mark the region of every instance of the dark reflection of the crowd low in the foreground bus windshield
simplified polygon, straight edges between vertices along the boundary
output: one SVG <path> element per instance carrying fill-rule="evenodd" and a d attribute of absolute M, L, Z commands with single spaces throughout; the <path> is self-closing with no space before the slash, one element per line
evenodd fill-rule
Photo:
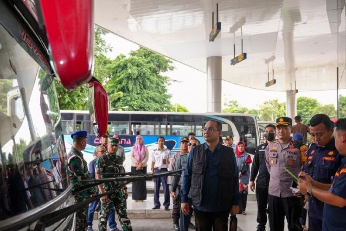
<path fill-rule="evenodd" d="M 6 168 L 0 165 L 0 220 L 51 201 L 68 184 L 67 178 L 62 177 L 62 170 L 55 166 L 52 157 L 49 157 L 47 169 L 40 160 L 27 162 L 22 167 L 14 162 L 9 153 Z"/>

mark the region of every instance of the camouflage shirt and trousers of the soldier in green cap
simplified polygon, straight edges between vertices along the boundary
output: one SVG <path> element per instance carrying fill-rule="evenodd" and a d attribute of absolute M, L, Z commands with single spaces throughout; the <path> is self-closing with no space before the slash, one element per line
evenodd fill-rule
<path fill-rule="evenodd" d="M 119 163 L 119 160 L 117 160 L 116 154 L 110 155 L 108 152 L 107 154 L 103 155 L 96 161 L 96 174 L 101 174 L 104 172 L 121 172 L 121 166 L 119 166 L 117 163 Z M 112 175 L 101 175 L 101 178 L 110 178 L 114 177 Z M 113 190 L 113 188 L 118 187 L 121 185 L 120 181 L 111 181 L 106 182 L 102 184 L 102 187 L 104 189 L 104 192 L 109 192 L 110 190 Z M 127 217 L 126 212 L 126 198 L 125 198 L 125 191 L 123 188 L 119 188 L 116 193 L 113 193 L 111 195 L 108 195 L 108 200 L 106 203 L 103 203 L 101 201 L 101 213 L 99 218 L 99 230 L 106 231 L 107 230 L 107 220 L 109 216 L 109 211 L 112 208 L 112 206 L 115 207 L 115 211 L 118 214 L 119 222 L 124 231 L 132 231 L 131 222 L 130 219 Z"/>

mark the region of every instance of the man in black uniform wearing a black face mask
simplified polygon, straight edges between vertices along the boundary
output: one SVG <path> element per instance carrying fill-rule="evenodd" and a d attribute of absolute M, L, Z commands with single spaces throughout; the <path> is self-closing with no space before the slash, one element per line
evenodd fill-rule
<path fill-rule="evenodd" d="M 257 200 L 257 231 L 265 231 L 267 223 L 267 204 L 268 204 L 268 186 L 269 173 L 265 164 L 265 148 L 275 140 L 275 125 L 268 124 L 264 128 L 263 136 L 267 140 L 264 144 L 258 145 L 255 152 L 254 161 L 251 166 L 251 176 L 249 188 L 252 192 L 255 189 L 255 179 L 257 176 L 256 200 Z"/>

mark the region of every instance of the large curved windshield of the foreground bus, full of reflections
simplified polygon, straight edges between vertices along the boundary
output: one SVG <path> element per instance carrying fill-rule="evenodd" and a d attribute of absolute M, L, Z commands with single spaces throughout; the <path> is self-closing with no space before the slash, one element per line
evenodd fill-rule
<path fill-rule="evenodd" d="M 50 71 L 1 25 L 0 43 L 0 220 L 5 220 L 56 198 L 69 179 Z"/>

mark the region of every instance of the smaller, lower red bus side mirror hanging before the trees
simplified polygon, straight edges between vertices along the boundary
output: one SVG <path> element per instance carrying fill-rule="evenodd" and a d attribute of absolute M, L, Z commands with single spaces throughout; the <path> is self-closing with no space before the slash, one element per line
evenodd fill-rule
<path fill-rule="evenodd" d="M 95 136 L 107 132 L 108 95 L 101 83 L 94 77 L 89 82 L 89 113 Z"/>

